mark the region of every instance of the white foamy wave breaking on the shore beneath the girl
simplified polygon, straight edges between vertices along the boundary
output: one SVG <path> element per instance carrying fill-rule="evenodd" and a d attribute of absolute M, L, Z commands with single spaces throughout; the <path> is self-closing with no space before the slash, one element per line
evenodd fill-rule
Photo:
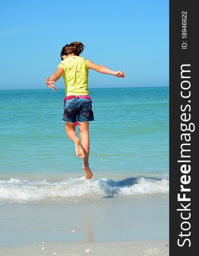
<path fill-rule="evenodd" d="M 156 177 L 111 180 L 85 180 L 85 177 L 69 177 L 59 182 L 47 179 L 32 181 L 24 179 L 0 180 L 0 198 L 34 201 L 51 197 L 81 197 L 83 195 L 125 196 L 169 192 L 169 179 Z"/>

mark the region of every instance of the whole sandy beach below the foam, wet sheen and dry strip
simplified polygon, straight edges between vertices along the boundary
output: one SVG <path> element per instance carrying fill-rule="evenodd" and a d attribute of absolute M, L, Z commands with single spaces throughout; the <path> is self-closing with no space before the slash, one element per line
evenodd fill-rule
<path fill-rule="evenodd" d="M 2 201 L 0 225 L 2 256 L 166 256 L 169 251 L 164 194 Z"/>

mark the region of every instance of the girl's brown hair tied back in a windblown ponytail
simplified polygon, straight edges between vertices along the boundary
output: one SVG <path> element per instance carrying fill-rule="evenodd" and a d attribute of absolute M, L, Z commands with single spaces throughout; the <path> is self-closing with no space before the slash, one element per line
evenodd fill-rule
<path fill-rule="evenodd" d="M 84 51 L 84 44 L 82 44 L 81 42 L 72 42 L 70 44 L 66 44 L 65 46 L 63 46 L 60 56 L 62 55 L 69 55 L 69 54 L 74 54 L 79 56 L 83 51 Z M 61 59 L 63 60 L 63 58 L 61 57 Z"/>

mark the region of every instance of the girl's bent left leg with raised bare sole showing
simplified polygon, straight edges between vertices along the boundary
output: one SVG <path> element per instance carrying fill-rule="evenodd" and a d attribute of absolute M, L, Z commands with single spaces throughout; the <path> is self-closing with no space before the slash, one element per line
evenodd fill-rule
<path fill-rule="evenodd" d="M 75 123 L 65 122 L 66 134 L 70 140 L 75 143 L 76 155 L 80 158 L 84 158 L 84 151 L 80 143 L 80 139 L 75 132 Z"/>

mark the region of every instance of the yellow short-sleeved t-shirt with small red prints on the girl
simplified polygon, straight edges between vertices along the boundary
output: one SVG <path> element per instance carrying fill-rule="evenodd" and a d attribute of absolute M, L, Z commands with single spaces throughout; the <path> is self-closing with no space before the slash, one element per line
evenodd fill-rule
<path fill-rule="evenodd" d="M 70 95 L 89 95 L 88 59 L 81 56 L 69 56 L 58 64 L 63 68 L 62 77 L 65 84 L 66 96 Z M 57 68 L 58 68 L 57 67 Z"/>

